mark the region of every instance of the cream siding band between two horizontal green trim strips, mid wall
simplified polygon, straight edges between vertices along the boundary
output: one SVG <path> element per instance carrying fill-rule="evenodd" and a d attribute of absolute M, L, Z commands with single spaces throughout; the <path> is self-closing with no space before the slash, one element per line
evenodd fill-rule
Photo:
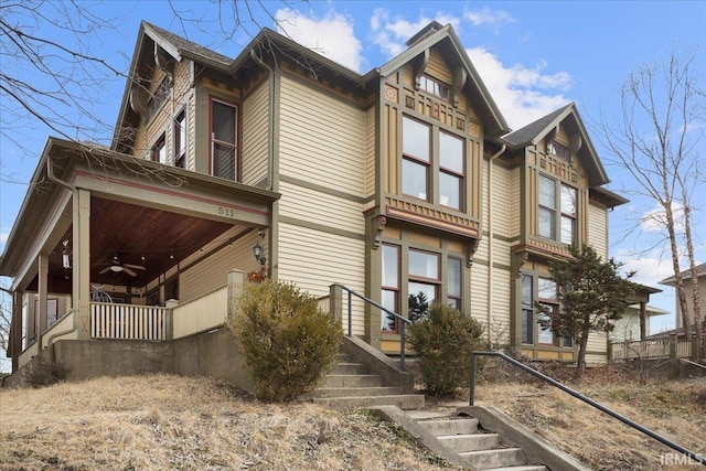
<path fill-rule="evenodd" d="M 315 190 L 281 182 L 280 216 L 321 224 L 327 227 L 365 234 L 363 205 Z M 322 204 L 325 202 L 325 204 Z M 335 208 L 335 211 L 332 211 Z"/>

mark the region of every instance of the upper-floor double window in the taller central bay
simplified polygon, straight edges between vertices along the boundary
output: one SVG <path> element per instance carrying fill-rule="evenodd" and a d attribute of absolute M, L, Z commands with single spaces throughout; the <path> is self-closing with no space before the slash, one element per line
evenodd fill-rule
<path fill-rule="evenodd" d="M 466 140 L 450 132 L 403 116 L 402 192 L 432 204 L 463 210 L 466 194 Z M 438 138 L 438 156 L 432 158 L 432 136 Z M 438 175 L 432 178 L 432 159 Z M 435 162 L 436 163 L 436 162 Z M 434 189 L 438 189 L 438 201 Z"/>

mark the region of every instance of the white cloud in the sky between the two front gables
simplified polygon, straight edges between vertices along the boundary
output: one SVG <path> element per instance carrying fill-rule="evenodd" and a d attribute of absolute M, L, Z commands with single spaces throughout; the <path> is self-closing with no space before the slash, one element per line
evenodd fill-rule
<path fill-rule="evenodd" d="M 534 68 L 520 64 L 506 67 L 483 47 L 466 50 L 501 113 L 513 129 L 548 115 L 570 101 L 560 92 L 571 85 L 566 72 L 544 74 L 547 64 Z"/>

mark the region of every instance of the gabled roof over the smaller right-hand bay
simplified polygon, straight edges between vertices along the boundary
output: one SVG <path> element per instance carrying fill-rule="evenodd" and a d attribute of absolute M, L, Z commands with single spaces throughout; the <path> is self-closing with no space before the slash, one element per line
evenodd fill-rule
<path fill-rule="evenodd" d="M 590 186 L 597 188 L 609 183 L 610 180 L 608 179 L 608 173 L 598 157 L 598 152 L 591 142 L 575 103 L 569 103 L 536 121 L 503 136 L 499 142 L 507 144 L 512 150 L 527 146 L 536 146 L 552 133 L 560 124 L 566 124 L 568 127 L 574 128 L 573 131 L 578 133 L 581 138 L 581 146 L 579 147 L 577 154 L 586 169 Z"/>

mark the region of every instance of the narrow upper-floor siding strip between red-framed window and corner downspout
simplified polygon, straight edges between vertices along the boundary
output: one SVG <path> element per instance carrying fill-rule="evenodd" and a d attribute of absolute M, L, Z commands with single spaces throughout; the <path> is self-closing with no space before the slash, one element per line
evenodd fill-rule
<path fill-rule="evenodd" d="M 243 103 L 243 183 L 255 185 L 267 178 L 269 86 L 263 83 Z"/>

